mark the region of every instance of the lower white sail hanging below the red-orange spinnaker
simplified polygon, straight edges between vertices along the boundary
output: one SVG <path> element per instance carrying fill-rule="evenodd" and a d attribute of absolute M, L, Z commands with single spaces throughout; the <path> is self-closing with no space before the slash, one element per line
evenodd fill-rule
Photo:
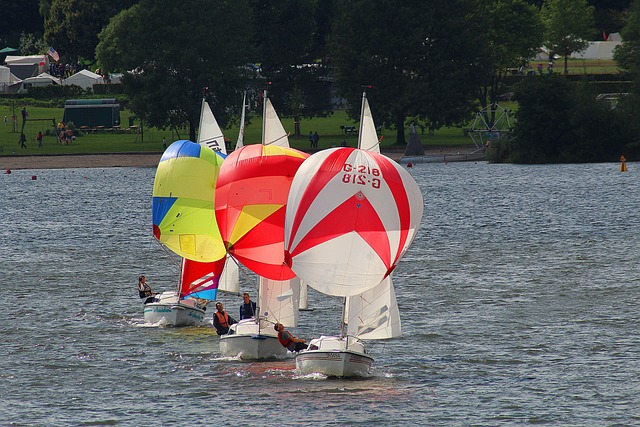
<path fill-rule="evenodd" d="M 260 313 L 269 322 L 280 322 L 291 328 L 298 326 L 300 279 L 280 281 L 260 277 L 259 286 Z"/>

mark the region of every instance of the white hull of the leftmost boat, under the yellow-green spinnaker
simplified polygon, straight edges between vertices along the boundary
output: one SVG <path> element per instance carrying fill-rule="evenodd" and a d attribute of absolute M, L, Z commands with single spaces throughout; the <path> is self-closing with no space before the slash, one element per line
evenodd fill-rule
<path fill-rule="evenodd" d="M 175 292 L 164 292 L 158 302 L 144 306 L 144 322 L 162 326 L 202 326 L 205 311 L 192 299 L 178 300 Z"/>

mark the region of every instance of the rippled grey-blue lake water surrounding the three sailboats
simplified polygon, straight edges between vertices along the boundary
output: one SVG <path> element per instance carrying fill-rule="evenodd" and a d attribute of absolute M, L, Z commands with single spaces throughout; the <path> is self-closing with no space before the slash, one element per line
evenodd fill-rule
<path fill-rule="evenodd" d="M 0 175 L 0 425 L 640 425 L 640 165 L 410 170 L 426 205 L 394 273 L 404 337 L 371 342 L 359 380 L 144 325 L 137 276 L 178 275 L 152 237 L 155 169 Z M 338 300 L 309 305 L 296 335 L 338 332 Z"/>

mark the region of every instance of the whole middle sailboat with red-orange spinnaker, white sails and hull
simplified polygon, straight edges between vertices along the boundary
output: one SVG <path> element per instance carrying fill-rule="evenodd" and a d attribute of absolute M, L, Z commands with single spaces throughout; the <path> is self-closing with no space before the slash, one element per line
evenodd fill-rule
<path fill-rule="evenodd" d="M 231 153 L 216 188 L 216 219 L 227 250 L 256 273 L 259 282 L 257 315 L 220 337 L 223 356 L 260 360 L 287 353 L 273 329 L 275 322 L 289 327 L 297 323 L 297 281 L 292 284 L 295 274 L 283 256 L 284 211 L 293 176 L 307 157 L 289 148 L 265 93 L 262 144 L 243 145 Z"/>

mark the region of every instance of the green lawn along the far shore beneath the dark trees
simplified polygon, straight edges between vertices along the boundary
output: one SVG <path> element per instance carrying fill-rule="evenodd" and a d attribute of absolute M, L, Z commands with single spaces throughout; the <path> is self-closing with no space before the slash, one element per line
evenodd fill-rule
<path fill-rule="evenodd" d="M 92 154 L 92 153 L 120 153 L 120 152 L 162 152 L 162 138 L 166 137 L 167 142 L 171 143 L 177 139 L 187 139 L 188 129 L 182 129 L 179 135 L 169 130 L 162 131 L 155 128 L 145 128 L 144 138 L 142 135 L 138 135 L 136 138 L 135 133 L 129 133 L 127 131 L 112 132 L 102 131 L 99 133 L 80 134 L 77 136 L 75 142 L 71 145 L 62 145 L 56 142 L 55 136 L 45 136 L 43 140 L 43 148 L 38 148 L 36 142 L 36 135 L 38 131 L 45 132 L 46 129 L 50 129 L 51 121 L 29 121 L 27 120 L 25 126 L 25 135 L 27 137 L 27 148 L 21 149 L 18 144 L 18 138 L 20 136 L 20 129 L 22 127 L 22 117 L 20 110 L 23 105 L 16 107 L 17 119 L 17 132 L 13 131 L 11 123 L 12 110 L 6 105 L 0 106 L 0 117 L 7 116 L 8 123 L 0 123 L 0 155 L 14 155 L 14 154 Z M 29 119 L 55 119 L 56 123 L 62 119 L 62 108 L 40 108 L 31 107 L 27 105 L 27 111 L 29 113 Z M 128 111 L 120 112 L 120 120 L 123 125 L 128 125 L 128 117 L 132 114 Z M 374 111 L 375 119 L 375 111 Z M 300 123 L 301 136 L 296 139 L 293 136 L 294 123 L 293 119 L 282 119 L 284 128 L 291 132 L 292 136 L 289 137 L 291 146 L 298 149 L 309 148 L 308 135 L 309 131 L 318 132 L 320 135 L 319 148 L 328 148 L 332 146 L 340 145 L 342 138 L 345 138 L 350 146 L 355 146 L 357 143 L 357 136 L 343 135 L 340 126 L 357 126 L 347 117 L 345 111 L 335 111 L 329 117 L 315 118 L 311 120 L 303 120 Z M 137 124 L 137 123 L 136 123 Z M 235 142 L 238 138 L 238 128 L 230 128 L 223 130 L 227 138 L 232 141 L 232 146 L 235 146 Z M 408 138 L 408 130 L 407 138 Z M 53 133 L 53 132 L 52 132 Z M 251 123 L 245 130 L 245 143 L 254 144 L 260 142 L 260 136 L 262 133 L 262 118 L 252 115 Z M 395 143 L 396 134 L 395 131 L 383 130 L 384 136 L 381 146 L 384 149 Z M 471 144 L 472 141 L 468 136 L 465 136 L 461 128 L 444 128 L 436 131 L 433 135 L 429 135 L 427 132 L 421 135 L 421 139 L 424 145 L 460 145 Z"/>

